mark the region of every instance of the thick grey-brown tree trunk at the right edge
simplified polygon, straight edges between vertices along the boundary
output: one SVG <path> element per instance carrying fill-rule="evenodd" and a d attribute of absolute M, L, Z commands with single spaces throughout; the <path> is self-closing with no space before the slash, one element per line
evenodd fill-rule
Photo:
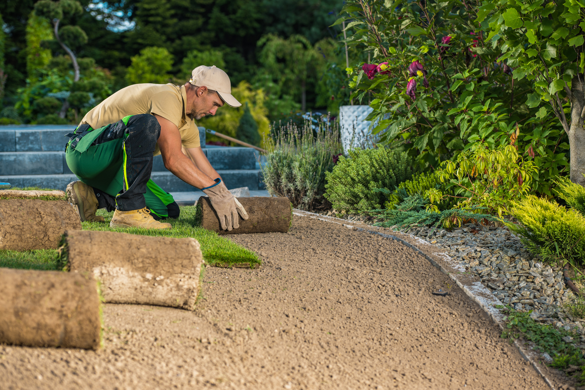
<path fill-rule="evenodd" d="M 571 125 L 569 132 L 571 181 L 585 186 L 585 85 L 583 74 L 573 77 L 571 92 Z"/>

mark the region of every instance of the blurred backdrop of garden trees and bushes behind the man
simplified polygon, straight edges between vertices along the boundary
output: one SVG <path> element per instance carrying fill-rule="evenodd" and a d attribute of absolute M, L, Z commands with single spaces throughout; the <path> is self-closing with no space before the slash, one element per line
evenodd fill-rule
<path fill-rule="evenodd" d="M 342 3 L 5 0 L 0 124 L 74 124 L 127 85 L 181 85 L 202 64 L 225 70 L 245 105 L 199 125 L 235 136 L 253 118 L 264 136 L 300 110 L 336 115 L 349 102 L 342 28 L 330 27 Z"/>

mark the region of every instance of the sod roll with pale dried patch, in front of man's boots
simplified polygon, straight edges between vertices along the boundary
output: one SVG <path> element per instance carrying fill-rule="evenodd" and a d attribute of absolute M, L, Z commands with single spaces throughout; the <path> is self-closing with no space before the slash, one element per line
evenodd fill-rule
<path fill-rule="evenodd" d="M 74 230 L 59 251 L 65 269 L 94 274 L 105 302 L 194 310 L 204 263 L 195 238 Z"/>

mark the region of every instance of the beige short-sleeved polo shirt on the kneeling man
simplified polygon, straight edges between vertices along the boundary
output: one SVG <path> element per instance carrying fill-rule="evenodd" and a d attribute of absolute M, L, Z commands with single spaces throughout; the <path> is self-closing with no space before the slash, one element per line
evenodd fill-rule
<path fill-rule="evenodd" d="M 185 86 L 174 84 L 134 84 L 122 88 L 91 109 L 81 119 L 94 129 L 118 122 L 128 115 L 157 114 L 173 122 L 181 134 L 184 148 L 197 148 L 199 129 L 195 121 L 185 115 L 187 93 Z M 156 144 L 154 156 L 160 155 Z"/>

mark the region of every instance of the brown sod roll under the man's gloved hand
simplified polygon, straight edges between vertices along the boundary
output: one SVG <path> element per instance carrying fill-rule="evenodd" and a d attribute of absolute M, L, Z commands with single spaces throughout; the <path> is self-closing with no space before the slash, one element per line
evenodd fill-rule
<path fill-rule="evenodd" d="M 222 230 L 218 214 L 211 207 L 207 196 L 197 201 L 197 219 L 201 227 L 215 231 L 217 234 L 287 232 L 292 224 L 292 207 L 286 197 L 250 197 L 238 198 L 246 209 L 248 219 L 238 215 L 240 227 L 231 231 Z"/>

